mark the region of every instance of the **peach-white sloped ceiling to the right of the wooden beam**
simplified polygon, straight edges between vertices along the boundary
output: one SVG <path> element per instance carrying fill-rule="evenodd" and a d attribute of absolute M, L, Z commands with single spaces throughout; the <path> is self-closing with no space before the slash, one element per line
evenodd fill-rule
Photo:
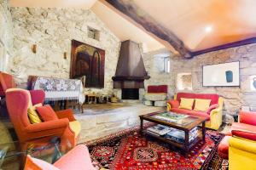
<path fill-rule="evenodd" d="M 192 51 L 256 37 L 256 0 L 133 2 L 172 31 Z M 212 31 L 206 31 L 207 26 Z"/>

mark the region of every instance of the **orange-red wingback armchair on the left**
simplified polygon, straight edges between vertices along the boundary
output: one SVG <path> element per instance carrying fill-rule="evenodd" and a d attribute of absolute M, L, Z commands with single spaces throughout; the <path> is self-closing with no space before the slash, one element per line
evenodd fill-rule
<path fill-rule="evenodd" d="M 26 144 L 34 140 L 61 137 L 61 143 L 69 142 L 72 146 L 79 139 L 80 124 L 73 117 L 72 110 L 58 111 L 59 119 L 32 124 L 27 115 L 28 107 L 39 103 L 44 104 L 44 91 L 27 91 L 20 88 L 10 88 L 6 91 L 6 103 L 9 117 L 15 127 L 20 143 Z"/>

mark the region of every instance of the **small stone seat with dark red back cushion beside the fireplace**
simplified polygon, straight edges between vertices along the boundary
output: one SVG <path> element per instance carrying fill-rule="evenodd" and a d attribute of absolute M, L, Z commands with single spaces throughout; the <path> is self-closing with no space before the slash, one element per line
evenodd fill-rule
<path fill-rule="evenodd" d="M 168 86 L 148 86 L 148 93 L 144 95 L 144 105 L 154 105 L 156 107 L 166 106 Z"/>

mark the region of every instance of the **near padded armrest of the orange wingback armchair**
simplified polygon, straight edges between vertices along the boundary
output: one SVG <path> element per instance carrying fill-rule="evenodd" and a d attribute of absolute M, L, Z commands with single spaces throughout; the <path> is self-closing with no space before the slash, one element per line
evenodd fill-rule
<path fill-rule="evenodd" d="M 26 127 L 26 132 L 38 133 L 38 132 L 48 131 L 55 128 L 63 128 L 63 131 L 64 131 L 68 125 L 69 125 L 69 121 L 67 118 L 48 121 L 48 122 L 39 122 L 39 123 L 28 125 Z"/>

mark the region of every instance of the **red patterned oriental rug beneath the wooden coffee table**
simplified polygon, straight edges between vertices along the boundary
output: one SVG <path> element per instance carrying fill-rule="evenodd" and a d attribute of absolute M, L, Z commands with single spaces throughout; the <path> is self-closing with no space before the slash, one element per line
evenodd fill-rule
<path fill-rule="evenodd" d="M 224 134 L 207 130 L 206 142 L 199 142 L 184 155 L 170 144 L 142 136 L 138 128 L 125 130 L 86 143 L 97 167 L 106 169 L 227 169 L 228 161 L 218 156 Z"/>

